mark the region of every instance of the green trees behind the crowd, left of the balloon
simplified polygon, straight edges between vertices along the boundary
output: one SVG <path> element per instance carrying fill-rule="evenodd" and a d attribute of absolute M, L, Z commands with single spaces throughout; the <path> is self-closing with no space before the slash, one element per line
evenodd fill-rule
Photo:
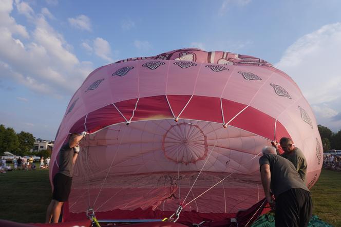
<path fill-rule="evenodd" d="M 10 152 L 16 156 L 50 156 L 47 150 L 30 153 L 34 147 L 34 142 L 35 137 L 32 134 L 25 131 L 15 133 L 13 128 L 0 124 L 0 155 L 4 155 L 4 152 Z"/>

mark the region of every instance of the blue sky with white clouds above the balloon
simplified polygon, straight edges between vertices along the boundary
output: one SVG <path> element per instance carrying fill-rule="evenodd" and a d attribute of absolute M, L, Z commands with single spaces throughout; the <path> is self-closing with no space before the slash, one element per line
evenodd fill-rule
<path fill-rule="evenodd" d="M 92 70 L 189 47 L 272 63 L 341 129 L 338 0 L 0 0 L 0 124 L 53 140 Z"/>

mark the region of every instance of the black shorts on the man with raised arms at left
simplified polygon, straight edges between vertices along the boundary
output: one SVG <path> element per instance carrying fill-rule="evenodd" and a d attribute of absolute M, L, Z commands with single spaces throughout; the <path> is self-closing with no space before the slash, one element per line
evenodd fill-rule
<path fill-rule="evenodd" d="M 52 199 L 59 202 L 66 202 L 69 199 L 71 183 L 72 177 L 68 177 L 61 173 L 54 175 Z"/>

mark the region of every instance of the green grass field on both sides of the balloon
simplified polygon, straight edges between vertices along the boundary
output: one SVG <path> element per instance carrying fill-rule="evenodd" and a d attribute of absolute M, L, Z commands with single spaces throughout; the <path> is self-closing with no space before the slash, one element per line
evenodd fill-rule
<path fill-rule="evenodd" d="M 341 227 L 341 173 L 323 170 L 311 189 L 313 214 Z M 44 222 L 51 200 L 47 169 L 0 174 L 0 219 L 16 222 Z"/>

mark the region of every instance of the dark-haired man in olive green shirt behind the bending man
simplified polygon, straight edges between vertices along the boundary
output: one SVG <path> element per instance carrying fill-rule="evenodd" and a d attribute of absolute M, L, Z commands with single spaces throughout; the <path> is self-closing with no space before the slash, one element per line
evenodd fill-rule
<path fill-rule="evenodd" d="M 277 154 L 279 155 L 277 142 L 273 141 L 272 145 L 276 148 Z M 284 153 L 280 156 L 288 159 L 294 164 L 296 171 L 299 173 L 299 176 L 306 183 L 307 160 L 302 151 L 298 147 L 295 147 L 292 140 L 287 137 L 282 137 L 279 140 L 279 145 L 284 151 Z"/>

